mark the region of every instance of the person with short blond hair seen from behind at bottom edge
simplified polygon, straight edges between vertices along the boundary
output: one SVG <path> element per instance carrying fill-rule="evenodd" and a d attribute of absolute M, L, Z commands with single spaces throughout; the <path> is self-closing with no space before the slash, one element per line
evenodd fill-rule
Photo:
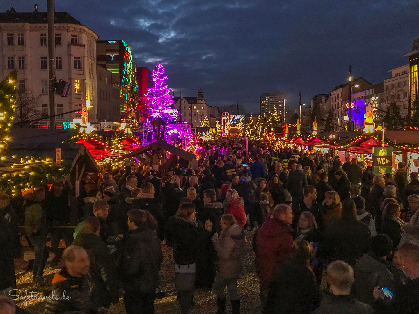
<path fill-rule="evenodd" d="M 313 314 L 372 314 L 374 310 L 368 304 L 357 301 L 351 295 L 351 287 L 354 283 L 354 270 L 347 263 L 335 260 L 327 267 L 327 282 L 330 285 L 330 293 L 326 295 L 320 306 Z"/>

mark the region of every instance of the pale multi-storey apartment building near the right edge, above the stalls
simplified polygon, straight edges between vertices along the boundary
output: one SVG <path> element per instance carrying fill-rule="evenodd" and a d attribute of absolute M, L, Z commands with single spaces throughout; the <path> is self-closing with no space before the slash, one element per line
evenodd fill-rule
<path fill-rule="evenodd" d="M 409 114 L 409 64 L 388 71 L 391 77 L 383 81 L 383 110 L 395 103 L 402 117 Z"/>

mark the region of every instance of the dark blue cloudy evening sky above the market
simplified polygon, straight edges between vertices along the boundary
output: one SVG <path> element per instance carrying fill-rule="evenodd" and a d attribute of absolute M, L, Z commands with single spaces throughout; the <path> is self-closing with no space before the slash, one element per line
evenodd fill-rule
<path fill-rule="evenodd" d="M 0 0 L 31 12 L 46 0 Z M 285 92 L 287 108 L 310 103 L 354 77 L 380 82 L 407 64 L 419 37 L 419 1 L 56 0 L 98 33 L 131 46 L 139 67 L 166 66 L 175 95 L 204 91 L 209 105 L 259 112 L 260 93 Z M 290 106 L 290 107 L 289 107 Z"/>

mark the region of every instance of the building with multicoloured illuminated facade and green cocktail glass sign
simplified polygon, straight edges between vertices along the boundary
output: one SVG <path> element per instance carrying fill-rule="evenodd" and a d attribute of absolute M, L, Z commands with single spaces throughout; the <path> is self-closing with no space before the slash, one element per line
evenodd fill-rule
<path fill-rule="evenodd" d="M 131 48 L 123 40 L 96 41 L 97 64 L 112 73 L 112 83 L 119 86 L 121 116 L 138 121 L 139 90 L 137 64 Z"/>

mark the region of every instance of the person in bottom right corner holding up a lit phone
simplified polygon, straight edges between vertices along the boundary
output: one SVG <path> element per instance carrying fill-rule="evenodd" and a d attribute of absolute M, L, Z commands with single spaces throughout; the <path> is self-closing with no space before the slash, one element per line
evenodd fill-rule
<path fill-rule="evenodd" d="M 390 301 L 380 288 L 373 291 L 377 313 L 416 314 L 419 313 L 419 245 L 407 242 L 398 248 L 403 273 L 410 279 L 403 286 L 396 286 Z"/>

